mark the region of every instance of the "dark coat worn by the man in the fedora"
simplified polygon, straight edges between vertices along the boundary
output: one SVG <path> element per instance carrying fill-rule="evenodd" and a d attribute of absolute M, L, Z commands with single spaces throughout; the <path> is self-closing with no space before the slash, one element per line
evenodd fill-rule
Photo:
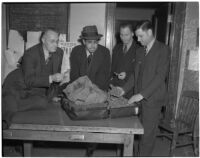
<path fill-rule="evenodd" d="M 90 66 L 87 64 L 86 49 L 83 45 L 73 48 L 70 55 L 70 82 L 87 75 L 89 79 L 102 90 L 108 90 L 110 79 L 110 52 L 98 45 L 93 54 Z"/>

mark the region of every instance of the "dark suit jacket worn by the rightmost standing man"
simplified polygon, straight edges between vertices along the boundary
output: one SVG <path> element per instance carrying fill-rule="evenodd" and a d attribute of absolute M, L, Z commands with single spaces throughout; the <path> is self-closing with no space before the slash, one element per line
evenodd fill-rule
<path fill-rule="evenodd" d="M 135 94 L 143 95 L 144 103 L 147 106 L 162 106 L 166 96 L 166 77 L 169 70 L 170 50 L 159 41 L 155 41 L 148 54 L 144 57 L 144 49 L 136 51 L 135 71 L 126 85 L 125 91 L 134 87 Z M 144 64 L 142 78 L 139 78 L 140 65 Z M 138 81 L 141 81 L 141 88 Z"/>

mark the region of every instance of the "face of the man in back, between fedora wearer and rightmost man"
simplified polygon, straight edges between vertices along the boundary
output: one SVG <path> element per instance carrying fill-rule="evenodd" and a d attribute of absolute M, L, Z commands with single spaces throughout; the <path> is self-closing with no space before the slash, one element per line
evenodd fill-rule
<path fill-rule="evenodd" d="M 120 28 L 120 38 L 123 44 L 128 44 L 133 39 L 133 32 L 130 30 L 129 27 Z"/>

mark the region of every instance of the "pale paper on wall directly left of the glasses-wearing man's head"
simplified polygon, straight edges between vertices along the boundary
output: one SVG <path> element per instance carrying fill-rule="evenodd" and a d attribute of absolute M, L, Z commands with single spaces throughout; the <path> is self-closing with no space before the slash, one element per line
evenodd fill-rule
<path fill-rule="evenodd" d="M 28 31 L 26 49 L 40 43 L 40 36 L 42 31 Z"/>

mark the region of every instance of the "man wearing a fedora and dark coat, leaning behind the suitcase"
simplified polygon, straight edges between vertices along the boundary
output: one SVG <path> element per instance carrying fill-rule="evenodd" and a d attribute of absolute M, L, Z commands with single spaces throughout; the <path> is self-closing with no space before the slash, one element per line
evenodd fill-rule
<path fill-rule="evenodd" d="M 83 28 L 80 36 L 83 44 L 74 47 L 70 56 L 70 82 L 87 75 L 100 89 L 108 90 L 110 52 L 98 44 L 101 37 L 95 25 Z"/>

